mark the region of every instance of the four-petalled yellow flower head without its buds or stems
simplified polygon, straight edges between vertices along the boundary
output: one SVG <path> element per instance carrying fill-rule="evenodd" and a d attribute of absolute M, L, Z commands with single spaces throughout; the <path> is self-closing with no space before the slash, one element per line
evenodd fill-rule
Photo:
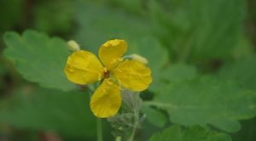
<path fill-rule="evenodd" d="M 65 74 L 76 84 L 103 82 L 90 98 L 90 109 L 97 117 L 114 116 L 121 106 L 122 87 L 131 91 L 143 91 L 152 82 L 151 71 L 136 59 L 123 59 L 127 50 L 124 40 L 110 40 L 95 54 L 79 50 L 67 59 Z"/>

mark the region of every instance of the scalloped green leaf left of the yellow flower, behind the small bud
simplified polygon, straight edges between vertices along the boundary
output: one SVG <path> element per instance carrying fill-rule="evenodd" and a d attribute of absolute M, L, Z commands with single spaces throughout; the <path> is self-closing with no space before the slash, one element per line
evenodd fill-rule
<path fill-rule="evenodd" d="M 25 31 L 22 36 L 6 32 L 4 42 L 8 47 L 5 56 L 26 80 L 38 82 L 42 87 L 73 89 L 63 72 L 69 55 L 66 42 L 37 31 Z"/>

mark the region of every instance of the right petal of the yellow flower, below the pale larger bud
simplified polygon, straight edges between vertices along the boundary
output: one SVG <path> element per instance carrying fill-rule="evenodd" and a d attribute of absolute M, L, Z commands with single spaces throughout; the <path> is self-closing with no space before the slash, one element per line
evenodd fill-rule
<path fill-rule="evenodd" d="M 137 60 L 125 60 L 112 73 L 122 87 L 132 91 L 143 91 L 152 82 L 150 69 Z"/>

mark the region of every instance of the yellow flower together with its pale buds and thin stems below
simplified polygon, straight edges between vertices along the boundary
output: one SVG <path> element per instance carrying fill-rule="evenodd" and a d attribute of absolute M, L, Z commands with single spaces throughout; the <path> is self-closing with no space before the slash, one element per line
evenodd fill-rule
<path fill-rule="evenodd" d="M 89 51 L 80 50 L 74 41 L 68 45 L 74 52 L 68 57 L 64 69 L 67 79 L 78 85 L 98 85 L 90 90 L 90 110 L 98 118 L 108 118 L 120 132 L 114 132 L 116 140 L 133 140 L 144 117 L 139 113 L 141 100 L 138 94 L 152 82 L 147 59 L 137 54 L 123 57 L 127 43 L 119 39 L 105 42 L 99 48 L 99 59 Z M 119 112 L 122 99 L 123 110 Z M 100 119 L 97 125 L 98 140 L 102 140 Z"/>

